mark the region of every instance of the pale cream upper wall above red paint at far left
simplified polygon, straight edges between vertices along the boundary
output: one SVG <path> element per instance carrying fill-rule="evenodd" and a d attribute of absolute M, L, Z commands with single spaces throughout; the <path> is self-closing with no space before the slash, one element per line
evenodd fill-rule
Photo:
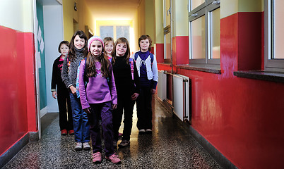
<path fill-rule="evenodd" d="M 0 25 L 21 32 L 33 32 L 32 0 L 1 0 Z"/>

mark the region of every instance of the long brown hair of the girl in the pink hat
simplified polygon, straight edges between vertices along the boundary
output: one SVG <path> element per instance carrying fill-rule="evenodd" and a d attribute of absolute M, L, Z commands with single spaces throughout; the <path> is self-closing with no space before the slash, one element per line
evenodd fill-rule
<path fill-rule="evenodd" d="M 104 46 L 102 44 L 102 51 L 104 51 Z M 110 61 L 107 59 L 107 57 L 102 53 L 98 58 L 97 61 L 100 62 L 100 71 L 102 73 L 102 77 L 110 77 Z M 87 56 L 87 60 L 85 63 L 85 70 L 86 70 L 86 77 L 95 77 L 97 75 L 96 68 L 95 68 L 95 56 L 91 54 L 89 51 L 89 54 Z"/>

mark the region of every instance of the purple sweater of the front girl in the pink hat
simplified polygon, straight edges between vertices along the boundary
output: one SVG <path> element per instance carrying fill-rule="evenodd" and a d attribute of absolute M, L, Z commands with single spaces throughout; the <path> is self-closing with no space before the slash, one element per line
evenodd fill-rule
<path fill-rule="evenodd" d="M 110 87 L 107 83 L 107 79 L 102 77 L 100 72 L 100 63 L 95 63 L 97 71 L 96 77 L 89 77 L 87 87 L 84 84 L 85 73 L 85 60 L 81 61 L 80 73 L 79 73 L 79 92 L 82 108 L 89 108 L 90 104 L 101 104 L 106 101 L 112 101 L 112 104 L 117 104 L 117 90 L 114 83 L 114 75 L 110 78 Z M 110 65 L 110 71 L 112 72 L 112 65 Z"/>

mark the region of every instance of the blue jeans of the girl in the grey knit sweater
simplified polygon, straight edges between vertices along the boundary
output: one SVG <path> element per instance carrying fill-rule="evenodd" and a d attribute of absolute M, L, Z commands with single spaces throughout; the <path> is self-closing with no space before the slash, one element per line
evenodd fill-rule
<path fill-rule="evenodd" d="M 80 98 L 70 92 L 70 102 L 73 115 L 75 142 L 90 142 L 90 124 L 88 115 L 83 111 Z"/>

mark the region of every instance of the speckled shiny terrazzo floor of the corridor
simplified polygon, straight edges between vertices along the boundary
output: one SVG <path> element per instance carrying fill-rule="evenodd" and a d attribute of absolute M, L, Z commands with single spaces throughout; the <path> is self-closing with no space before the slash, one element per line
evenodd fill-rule
<path fill-rule="evenodd" d="M 91 151 L 73 150 L 73 136 L 59 132 L 59 115 L 47 113 L 54 118 L 47 118 L 50 124 L 42 129 L 40 141 L 28 143 L 4 168 L 221 168 L 155 99 L 153 110 L 152 134 L 138 134 L 134 111 L 130 146 L 116 150 L 121 164 L 105 158 L 95 164 Z"/>

